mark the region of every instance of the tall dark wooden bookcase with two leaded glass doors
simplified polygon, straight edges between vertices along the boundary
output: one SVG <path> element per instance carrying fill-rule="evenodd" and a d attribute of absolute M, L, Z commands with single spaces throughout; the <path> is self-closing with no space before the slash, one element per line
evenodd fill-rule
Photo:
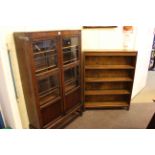
<path fill-rule="evenodd" d="M 30 128 L 62 128 L 82 114 L 81 32 L 14 33 Z"/>

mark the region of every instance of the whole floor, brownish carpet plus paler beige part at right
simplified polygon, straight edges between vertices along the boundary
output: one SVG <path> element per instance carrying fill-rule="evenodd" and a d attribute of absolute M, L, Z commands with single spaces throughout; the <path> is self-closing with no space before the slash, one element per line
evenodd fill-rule
<path fill-rule="evenodd" d="M 146 87 L 131 101 L 130 110 L 88 110 L 66 129 L 145 129 L 154 112 L 155 72 L 148 72 Z M 139 103 L 139 104 L 136 104 Z"/>

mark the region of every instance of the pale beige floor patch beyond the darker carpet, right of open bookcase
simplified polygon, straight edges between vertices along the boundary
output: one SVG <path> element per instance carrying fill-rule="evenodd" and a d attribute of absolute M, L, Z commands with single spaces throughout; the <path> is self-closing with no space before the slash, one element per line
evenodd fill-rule
<path fill-rule="evenodd" d="M 132 103 L 153 102 L 155 99 L 155 71 L 148 71 L 148 79 L 146 87 L 139 92 L 133 99 Z"/>

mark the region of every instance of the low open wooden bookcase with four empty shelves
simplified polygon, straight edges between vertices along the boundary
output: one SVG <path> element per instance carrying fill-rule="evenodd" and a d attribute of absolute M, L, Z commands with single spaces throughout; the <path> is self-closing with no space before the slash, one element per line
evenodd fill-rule
<path fill-rule="evenodd" d="M 84 51 L 85 108 L 129 109 L 135 51 Z"/>

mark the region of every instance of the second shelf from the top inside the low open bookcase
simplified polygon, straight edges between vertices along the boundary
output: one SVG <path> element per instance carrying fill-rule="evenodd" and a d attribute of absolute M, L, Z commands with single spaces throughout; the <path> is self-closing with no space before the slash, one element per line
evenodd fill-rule
<path fill-rule="evenodd" d="M 133 81 L 129 77 L 104 77 L 104 78 L 85 78 L 85 82 L 130 82 Z"/>

